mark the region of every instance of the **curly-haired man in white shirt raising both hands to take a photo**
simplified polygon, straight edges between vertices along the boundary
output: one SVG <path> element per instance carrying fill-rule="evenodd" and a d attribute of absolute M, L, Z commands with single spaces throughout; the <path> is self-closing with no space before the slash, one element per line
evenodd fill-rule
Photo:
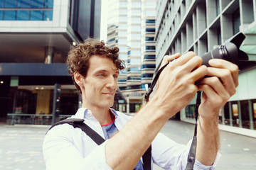
<path fill-rule="evenodd" d="M 129 118 L 110 108 L 119 69 L 124 68 L 118 48 L 89 39 L 71 50 L 69 72 L 82 94 L 82 108 L 72 118 L 84 119 L 106 142 L 98 146 L 80 128 L 55 126 L 43 143 L 47 169 L 143 169 L 141 157 L 149 145 L 152 162 L 164 169 L 185 169 L 190 144 L 177 144 L 159 130 L 198 90 L 203 96 L 194 169 L 214 169 L 219 148 L 218 111 L 235 94 L 238 67 L 225 60 L 210 60 L 211 67 L 201 66 L 201 57 L 193 52 L 165 56 L 162 64 L 173 59 L 161 72 L 154 96 Z"/>

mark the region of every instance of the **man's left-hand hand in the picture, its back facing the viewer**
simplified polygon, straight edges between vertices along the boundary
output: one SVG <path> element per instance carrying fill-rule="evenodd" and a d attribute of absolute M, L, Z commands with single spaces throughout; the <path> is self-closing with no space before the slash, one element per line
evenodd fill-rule
<path fill-rule="evenodd" d="M 169 113 L 169 117 L 191 102 L 198 91 L 195 82 L 207 73 L 207 67 L 201 66 L 201 57 L 194 52 L 187 52 L 181 57 L 179 54 L 165 56 L 161 66 L 172 59 L 176 60 L 170 62 L 161 72 L 156 94 L 152 98 L 154 102 L 160 103 L 159 109 Z"/>

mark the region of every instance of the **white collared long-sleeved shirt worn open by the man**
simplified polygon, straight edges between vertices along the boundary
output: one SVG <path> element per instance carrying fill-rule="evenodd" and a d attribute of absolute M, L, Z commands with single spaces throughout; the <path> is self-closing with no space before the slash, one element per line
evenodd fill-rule
<path fill-rule="evenodd" d="M 114 111 L 114 124 L 121 130 L 131 117 Z M 95 130 L 101 137 L 105 138 L 100 123 L 87 108 L 80 108 L 71 118 L 84 119 L 90 128 Z M 48 170 L 82 170 L 82 169 L 111 169 L 105 159 L 106 140 L 102 145 L 97 145 L 80 128 L 73 128 L 72 125 L 58 125 L 48 131 L 43 142 L 43 156 Z M 125 144 L 124 144 L 125 145 Z M 188 145 L 181 145 L 159 133 L 152 142 L 152 161 L 164 169 L 185 169 Z M 196 160 L 194 169 L 214 169 L 220 157 L 217 155 L 213 166 L 205 166 Z"/>

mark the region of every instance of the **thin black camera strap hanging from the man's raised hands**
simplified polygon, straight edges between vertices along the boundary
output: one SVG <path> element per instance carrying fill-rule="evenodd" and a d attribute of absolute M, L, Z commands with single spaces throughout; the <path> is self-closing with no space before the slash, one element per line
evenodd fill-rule
<path fill-rule="evenodd" d="M 149 101 L 149 96 L 153 92 L 154 86 L 156 85 L 156 82 L 159 79 L 159 75 L 168 64 L 169 62 L 165 64 L 163 67 L 161 67 L 161 69 L 159 69 L 159 71 L 156 73 L 156 76 L 154 77 L 149 90 L 146 91 L 145 98 L 144 98 L 146 102 Z M 193 170 L 193 165 L 195 164 L 195 161 L 196 161 L 197 120 L 198 120 L 198 107 L 200 104 L 201 104 L 201 91 L 198 91 L 197 97 L 196 97 L 196 108 L 195 108 L 196 125 L 195 125 L 193 140 L 191 143 L 191 148 L 189 149 L 189 152 L 188 152 L 188 159 L 187 159 L 187 165 L 185 170 Z"/>

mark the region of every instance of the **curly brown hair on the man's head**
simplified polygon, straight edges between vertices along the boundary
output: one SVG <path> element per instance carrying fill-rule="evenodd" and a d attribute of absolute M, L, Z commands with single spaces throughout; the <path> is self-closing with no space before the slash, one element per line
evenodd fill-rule
<path fill-rule="evenodd" d="M 74 72 L 78 72 L 83 77 L 86 77 L 87 71 L 89 69 L 89 60 L 92 55 L 111 59 L 117 69 L 124 69 L 124 61 L 119 60 L 118 54 L 118 47 L 107 47 L 105 42 L 93 38 L 88 38 L 85 40 L 85 42 L 72 47 L 70 52 L 68 52 L 68 72 L 72 77 L 73 83 L 75 84 L 75 88 L 78 90 L 78 92 L 82 94 L 80 86 L 75 83 Z"/>

